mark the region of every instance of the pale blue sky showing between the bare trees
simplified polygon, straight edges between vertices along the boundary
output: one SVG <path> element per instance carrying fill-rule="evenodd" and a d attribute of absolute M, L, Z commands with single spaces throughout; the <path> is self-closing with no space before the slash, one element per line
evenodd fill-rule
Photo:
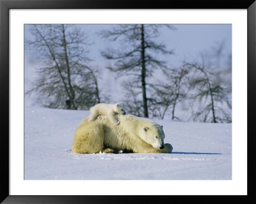
<path fill-rule="evenodd" d="M 122 95 L 121 86 L 116 86 L 122 79 L 116 79 L 116 76 L 109 74 L 104 69 L 109 65 L 108 59 L 100 55 L 100 51 L 106 48 L 115 48 L 115 43 L 107 42 L 97 35 L 97 32 L 105 29 L 111 29 L 115 24 L 77 24 L 81 30 L 88 36 L 92 45 L 89 47 L 88 57 L 92 59 L 92 65 L 102 68 L 99 80 L 99 88 L 103 91 L 115 92 L 116 95 Z M 159 42 L 166 45 L 166 49 L 173 50 L 174 54 L 164 56 L 164 60 L 169 66 L 180 66 L 182 61 L 194 59 L 200 52 L 209 52 L 223 43 L 223 59 L 227 59 L 232 53 L 232 25 L 231 24 L 172 24 L 175 30 L 166 27 L 161 28 Z M 25 40 L 33 38 L 29 32 L 29 25 L 25 25 Z M 36 77 L 35 68 L 44 66 L 33 54 L 25 49 L 25 91 L 31 88 L 31 82 Z M 162 56 L 159 56 L 161 58 Z M 227 63 L 227 61 L 223 61 Z M 224 64 L 223 64 L 224 65 Z M 115 82 L 113 82 L 115 81 Z M 118 99 L 117 99 L 118 100 Z"/>

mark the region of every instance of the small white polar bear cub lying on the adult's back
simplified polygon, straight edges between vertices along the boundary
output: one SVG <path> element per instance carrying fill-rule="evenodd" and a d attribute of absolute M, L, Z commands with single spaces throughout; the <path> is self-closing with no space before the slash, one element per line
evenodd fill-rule
<path fill-rule="evenodd" d="M 109 120 L 115 124 L 119 125 L 120 121 L 118 121 L 115 117 L 117 114 L 125 114 L 125 104 L 97 104 L 90 108 L 90 116 L 89 122 L 95 120 L 99 115 L 108 116 Z"/>

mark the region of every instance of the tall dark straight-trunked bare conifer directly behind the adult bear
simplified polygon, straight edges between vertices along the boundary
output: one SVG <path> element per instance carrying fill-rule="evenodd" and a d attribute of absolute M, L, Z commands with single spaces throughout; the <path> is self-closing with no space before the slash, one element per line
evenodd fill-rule
<path fill-rule="evenodd" d="M 164 43 L 157 43 L 159 27 L 156 24 L 122 24 L 111 31 L 101 31 L 99 34 L 108 40 L 119 40 L 119 49 L 108 49 L 102 52 L 107 59 L 114 59 L 115 65 L 107 67 L 120 75 L 132 75 L 134 81 L 140 81 L 143 114 L 148 118 L 147 78 L 157 68 L 166 68 L 165 62 L 157 58 L 157 54 L 172 54 Z M 170 25 L 165 25 L 174 29 Z"/>

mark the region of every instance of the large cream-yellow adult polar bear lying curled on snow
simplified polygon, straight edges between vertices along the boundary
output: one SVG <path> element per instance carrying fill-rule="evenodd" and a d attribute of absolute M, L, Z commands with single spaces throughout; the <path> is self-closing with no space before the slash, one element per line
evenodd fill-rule
<path fill-rule="evenodd" d="M 120 115 L 119 120 L 120 125 L 116 126 L 107 116 L 91 122 L 85 118 L 76 129 L 72 152 L 172 152 L 172 145 L 163 143 L 163 128 L 157 123 L 133 115 Z"/>

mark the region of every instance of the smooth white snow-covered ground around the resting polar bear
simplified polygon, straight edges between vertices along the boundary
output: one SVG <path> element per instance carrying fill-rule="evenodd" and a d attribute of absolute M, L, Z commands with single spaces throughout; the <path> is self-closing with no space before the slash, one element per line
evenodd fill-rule
<path fill-rule="evenodd" d="M 25 107 L 26 180 L 230 180 L 232 125 L 154 120 L 170 154 L 76 154 L 71 145 L 88 111 Z"/>

